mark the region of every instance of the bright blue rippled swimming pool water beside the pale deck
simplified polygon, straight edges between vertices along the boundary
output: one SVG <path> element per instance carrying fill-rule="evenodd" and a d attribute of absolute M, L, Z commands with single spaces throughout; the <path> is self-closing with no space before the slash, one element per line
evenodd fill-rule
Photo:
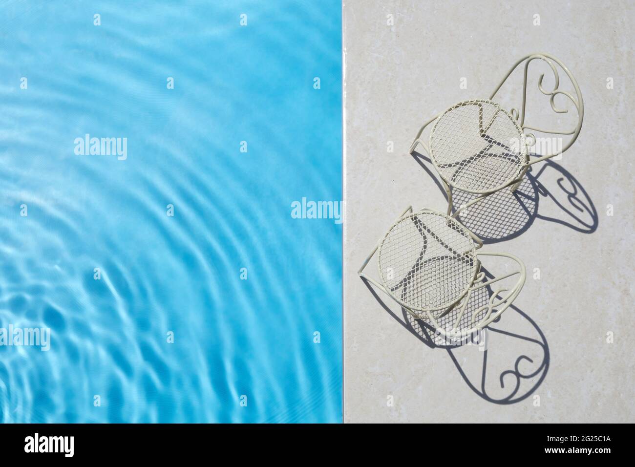
<path fill-rule="evenodd" d="M 341 225 L 290 214 L 341 199 L 340 30 L 334 0 L 1 3 L 0 328 L 51 337 L 0 346 L 0 421 L 341 421 Z"/>

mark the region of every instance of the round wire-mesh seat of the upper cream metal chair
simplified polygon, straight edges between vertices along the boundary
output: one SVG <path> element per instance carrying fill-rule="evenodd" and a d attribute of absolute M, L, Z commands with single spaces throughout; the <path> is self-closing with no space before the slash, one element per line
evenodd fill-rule
<path fill-rule="evenodd" d="M 525 165 L 521 128 L 490 100 L 467 100 L 439 116 L 430 133 L 430 156 L 451 186 L 486 193 L 518 177 Z"/>

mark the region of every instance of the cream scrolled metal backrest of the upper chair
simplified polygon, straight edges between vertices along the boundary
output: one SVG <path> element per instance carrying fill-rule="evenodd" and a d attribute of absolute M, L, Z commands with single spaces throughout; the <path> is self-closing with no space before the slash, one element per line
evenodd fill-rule
<path fill-rule="evenodd" d="M 533 60 L 542 60 L 545 63 L 547 63 L 549 65 L 549 67 L 551 67 L 551 70 L 553 71 L 554 74 L 554 79 L 555 79 L 555 85 L 554 88 L 552 90 L 545 90 L 545 88 L 542 86 L 542 80 L 544 79 L 545 75 L 544 73 L 540 75 L 540 78 L 538 78 L 538 90 L 540 90 L 541 93 L 543 93 L 546 96 L 549 96 L 549 103 L 551 104 L 551 109 L 558 113 L 558 114 L 564 114 L 566 112 L 568 112 L 568 110 L 566 109 L 560 109 L 558 107 L 556 107 L 556 103 L 554 102 L 554 98 L 557 95 L 563 95 L 566 98 L 568 98 L 573 105 L 575 105 L 575 109 L 578 112 L 578 123 L 575 126 L 575 128 L 571 131 L 560 131 L 560 130 L 544 130 L 542 128 L 537 128 L 535 126 L 530 126 L 530 125 L 525 125 L 525 107 L 526 107 L 526 97 L 527 97 L 527 73 L 528 73 L 528 69 L 529 69 L 529 64 L 531 62 L 533 62 Z M 569 149 L 572 144 L 575 142 L 575 140 L 578 138 L 578 134 L 580 133 L 580 129 L 582 128 L 582 119 L 584 118 L 584 102 L 582 100 L 582 93 L 580 92 L 580 87 L 578 86 L 577 81 L 575 80 L 575 78 L 573 78 L 573 74 L 569 71 L 569 69 L 566 67 L 565 64 L 563 64 L 563 62 L 561 62 L 558 58 L 554 57 L 553 55 L 550 55 L 549 53 L 532 53 L 530 55 L 527 55 L 526 57 L 521 58 L 520 60 L 518 60 L 518 62 L 516 62 L 511 69 L 509 70 L 509 72 L 507 72 L 507 74 L 505 75 L 505 78 L 503 78 L 500 83 L 498 83 L 498 86 L 496 87 L 496 89 L 493 91 L 493 93 L 491 93 L 490 95 L 490 99 L 493 99 L 494 96 L 496 95 L 496 93 L 498 92 L 498 90 L 500 90 L 501 86 L 505 83 L 505 81 L 507 81 L 507 78 L 509 78 L 509 76 L 512 74 L 512 72 L 514 72 L 514 70 L 516 70 L 516 68 L 518 67 L 518 65 L 520 65 L 521 63 L 525 62 L 525 71 L 524 71 L 524 81 L 523 81 L 523 104 L 521 107 L 521 111 L 518 112 L 518 109 L 511 109 L 511 114 L 512 116 L 514 116 L 514 118 L 516 118 L 516 120 L 518 121 L 519 125 L 521 126 L 521 128 L 524 130 L 533 130 L 535 132 L 540 132 L 540 133 L 550 133 L 552 135 L 573 135 L 572 139 L 562 148 L 560 149 L 558 152 L 549 152 L 548 154 L 543 154 L 541 157 L 537 158 L 537 159 L 532 159 L 531 163 L 536 163 L 539 161 L 542 161 L 544 159 L 549 159 L 552 158 L 554 156 L 558 156 L 558 154 L 562 154 L 563 152 L 565 152 L 567 149 Z M 559 90 L 559 85 L 560 85 L 560 77 L 558 75 L 558 68 L 556 67 L 556 65 L 558 65 L 561 69 L 563 69 L 563 71 L 565 71 L 566 76 L 571 80 L 571 83 L 573 85 L 573 88 L 575 89 L 575 96 L 568 92 L 568 91 L 564 91 L 564 90 Z M 531 137 L 534 142 L 536 140 L 535 135 L 528 133 L 528 136 Z M 533 146 L 533 144 L 531 145 Z"/>

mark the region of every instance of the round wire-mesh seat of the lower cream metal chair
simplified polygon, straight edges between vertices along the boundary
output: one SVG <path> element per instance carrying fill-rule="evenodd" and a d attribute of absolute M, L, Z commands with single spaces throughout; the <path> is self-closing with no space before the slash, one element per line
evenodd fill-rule
<path fill-rule="evenodd" d="M 457 220 L 418 212 L 399 219 L 385 235 L 378 266 L 385 287 L 404 304 L 434 311 L 464 295 L 478 262 L 474 242 Z"/>

